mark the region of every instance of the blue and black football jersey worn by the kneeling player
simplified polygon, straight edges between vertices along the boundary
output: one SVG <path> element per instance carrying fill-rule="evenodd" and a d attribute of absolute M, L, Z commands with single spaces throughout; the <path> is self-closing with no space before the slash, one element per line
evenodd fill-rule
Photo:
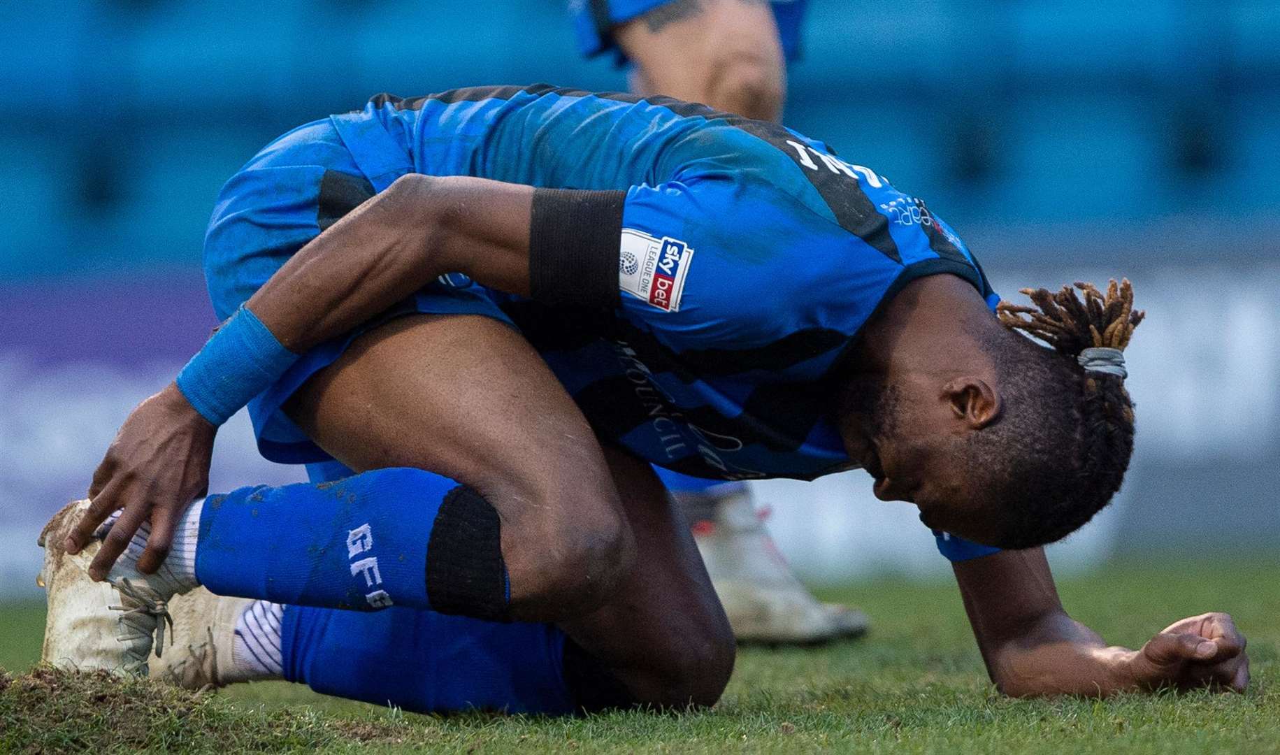
<path fill-rule="evenodd" d="M 625 192 L 600 252 L 612 311 L 493 297 L 602 436 L 676 471 L 847 467 L 829 379 L 877 307 L 937 273 L 998 298 L 924 202 L 773 123 L 549 86 L 379 96 L 366 114 L 420 173 Z"/>

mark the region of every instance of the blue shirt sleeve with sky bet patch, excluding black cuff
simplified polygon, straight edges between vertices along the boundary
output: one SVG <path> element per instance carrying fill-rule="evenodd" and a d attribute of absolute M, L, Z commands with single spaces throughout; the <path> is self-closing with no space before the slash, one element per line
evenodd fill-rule
<path fill-rule="evenodd" d="M 852 333 L 899 273 L 846 253 L 845 232 L 773 184 L 732 173 L 632 187 L 620 242 L 622 316 L 686 349 Z"/>

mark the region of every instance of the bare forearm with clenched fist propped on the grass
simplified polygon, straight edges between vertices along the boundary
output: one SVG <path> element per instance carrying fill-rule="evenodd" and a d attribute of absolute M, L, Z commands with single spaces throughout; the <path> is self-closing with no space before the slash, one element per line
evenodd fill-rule
<path fill-rule="evenodd" d="M 955 564 L 992 682 L 1006 695 L 1100 695 L 1212 686 L 1244 691 L 1244 635 L 1225 613 L 1181 619 L 1139 650 L 1108 645 L 1062 609 L 1044 552 Z"/>

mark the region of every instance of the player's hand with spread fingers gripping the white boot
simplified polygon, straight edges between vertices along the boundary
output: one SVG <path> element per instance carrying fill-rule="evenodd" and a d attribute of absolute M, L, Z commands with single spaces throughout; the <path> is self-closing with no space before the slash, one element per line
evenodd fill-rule
<path fill-rule="evenodd" d="M 147 520 L 151 535 L 138 569 L 160 568 L 187 504 L 209 490 L 216 433 L 172 383 L 129 413 L 93 472 L 88 512 L 65 543 L 68 553 L 78 553 L 111 512 L 124 509 L 90 564 L 91 577 L 106 576 Z"/>

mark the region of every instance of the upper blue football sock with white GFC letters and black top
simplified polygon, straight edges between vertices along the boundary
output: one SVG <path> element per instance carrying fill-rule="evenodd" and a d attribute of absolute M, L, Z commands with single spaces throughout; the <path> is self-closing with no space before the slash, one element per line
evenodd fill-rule
<path fill-rule="evenodd" d="M 210 495 L 196 576 L 218 595 L 486 619 L 506 618 L 511 595 L 497 511 L 413 468 Z"/>

